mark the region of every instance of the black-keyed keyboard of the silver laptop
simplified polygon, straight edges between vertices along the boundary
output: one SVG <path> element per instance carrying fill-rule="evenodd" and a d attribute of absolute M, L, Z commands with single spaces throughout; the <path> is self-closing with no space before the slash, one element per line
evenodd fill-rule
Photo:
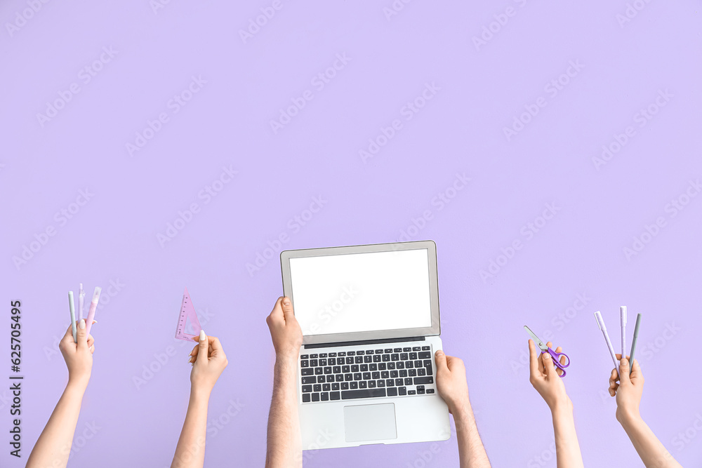
<path fill-rule="evenodd" d="M 434 394 L 430 346 L 300 354 L 303 403 Z"/>

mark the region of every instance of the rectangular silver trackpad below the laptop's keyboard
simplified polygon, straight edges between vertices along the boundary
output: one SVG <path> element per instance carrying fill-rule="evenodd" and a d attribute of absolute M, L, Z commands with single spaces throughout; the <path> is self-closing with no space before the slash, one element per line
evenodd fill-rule
<path fill-rule="evenodd" d="M 344 406 L 347 442 L 397 439 L 395 404 Z"/>

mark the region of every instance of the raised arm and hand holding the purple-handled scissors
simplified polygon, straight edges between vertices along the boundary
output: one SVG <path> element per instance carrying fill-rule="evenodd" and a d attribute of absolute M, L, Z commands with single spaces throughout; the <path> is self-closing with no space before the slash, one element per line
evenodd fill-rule
<path fill-rule="evenodd" d="M 552 347 L 551 342 L 546 343 Z M 561 352 L 561 347 L 556 348 Z M 562 361 L 565 360 L 561 357 Z M 556 442 L 556 465 L 558 468 L 583 468 L 578 435 L 575 432 L 573 403 L 566 393 L 562 370 L 556 370 L 548 353 L 538 355 L 533 340 L 529 340 L 529 381 L 551 410 L 553 436 Z"/>

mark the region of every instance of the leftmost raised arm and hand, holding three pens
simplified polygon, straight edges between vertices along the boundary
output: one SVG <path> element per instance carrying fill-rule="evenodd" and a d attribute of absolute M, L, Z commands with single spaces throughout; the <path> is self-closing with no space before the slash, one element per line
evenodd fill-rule
<path fill-rule="evenodd" d="M 79 322 L 77 340 L 73 341 L 72 326 L 59 344 L 68 367 L 68 384 L 51 417 L 41 432 L 27 459 L 27 468 L 65 467 L 73 445 L 83 394 L 88 387 L 93 368 L 93 337 L 86 333 L 86 321 Z"/>

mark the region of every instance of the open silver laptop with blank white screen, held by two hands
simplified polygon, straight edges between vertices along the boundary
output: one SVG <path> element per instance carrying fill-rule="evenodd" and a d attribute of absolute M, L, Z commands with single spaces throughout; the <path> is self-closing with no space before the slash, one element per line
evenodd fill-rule
<path fill-rule="evenodd" d="M 449 439 L 433 241 L 284 250 L 303 450 Z"/>

